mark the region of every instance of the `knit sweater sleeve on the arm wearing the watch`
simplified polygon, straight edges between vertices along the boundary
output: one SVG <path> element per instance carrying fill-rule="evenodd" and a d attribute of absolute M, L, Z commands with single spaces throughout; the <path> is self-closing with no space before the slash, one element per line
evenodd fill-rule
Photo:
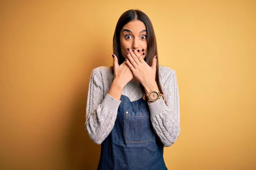
<path fill-rule="evenodd" d="M 180 134 L 180 104 L 177 77 L 172 70 L 163 85 L 166 103 L 161 97 L 156 102 L 148 103 L 151 123 L 164 146 L 169 147 Z"/>

